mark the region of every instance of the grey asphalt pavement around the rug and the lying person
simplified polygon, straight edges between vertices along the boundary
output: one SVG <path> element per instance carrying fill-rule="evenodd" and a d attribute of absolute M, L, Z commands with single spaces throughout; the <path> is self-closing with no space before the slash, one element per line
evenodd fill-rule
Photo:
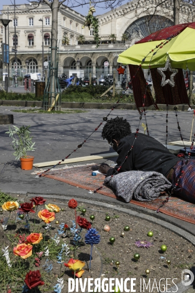
<path fill-rule="evenodd" d="M 102 118 L 109 112 L 108 110 L 90 109 L 87 112 L 77 114 L 26 114 L 10 112 L 12 109 L 22 107 L 0 106 L 0 113 L 14 114 L 14 124 L 16 126 L 31 126 L 32 135 L 36 142 L 36 151 L 31 153 L 35 156 L 34 163 L 61 160 L 65 158 L 75 147 L 78 146 L 102 121 Z M 131 126 L 132 131 L 136 131 L 139 114 L 134 110 L 114 110 L 110 117 L 122 116 L 126 118 Z M 185 140 L 189 141 L 192 125 L 193 113 L 178 112 L 178 120 L 181 126 L 181 133 Z M 150 135 L 154 136 L 161 143 L 165 143 L 166 130 L 166 112 L 148 111 L 147 123 L 149 126 Z M 169 137 L 168 141 L 179 140 L 179 132 L 177 129 L 176 117 L 174 112 L 168 113 L 169 120 Z M 141 123 L 145 123 L 144 119 Z M 143 128 L 139 127 L 143 133 Z M 146 210 L 140 207 L 135 207 L 132 204 L 125 204 L 113 198 L 104 195 L 90 194 L 88 190 L 76 188 L 60 181 L 51 180 L 48 178 L 35 178 L 31 175 L 32 170 L 23 171 L 20 169 L 20 164 L 15 161 L 12 155 L 13 149 L 9 145 L 11 142 L 9 136 L 5 134 L 8 130 L 8 125 L 0 125 L 0 189 L 4 192 L 11 192 L 20 195 L 44 194 L 51 198 L 63 200 L 63 196 L 76 197 L 78 200 L 94 200 L 98 202 L 111 204 L 117 208 L 125 208 L 135 211 L 141 216 L 157 217 L 157 221 L 165 221 L 180 227 L 195 236 L 195 225 L 183 222 L 179 219 L 166 216 L 162 213 L 156 214 L 153 210 Z M 195 125 L 193 129 L 195 133 Z M 109 148 L 108 143 L 101 138 L 101 128 L 82 146 L 78 151 L 73 153 L 71 158 L 89 156 L 94 154 L 113 152 Z M 152 158 L 151 158 L 152 159 Z M 113 163 L 116 157 L 110 158 L 109 161 L 98 160 L 95 163 Z M 9 162 L 9 164 L 6 164 Z M 86 162 L 90 163 L 90 161 Z M 5 165 L 6 164 L 6 165 Z M 81 164 L 85 164 L 82 162 Z M 34 170 L 36 170 L 34 168 Z M 167 224 L 169 225 L 169 224 Z M 177 229 L 177 228 L 176 228 Z M 194 239 L 194 236 L 193 239 Z M 194 289 L 193 289 L 194 290 Z M 182 291 L 184 292 L 184 291 Z M 190 293 L 191 291 L 189 291 Z M 194 291 L 192 291 L 194 292 Z"/>

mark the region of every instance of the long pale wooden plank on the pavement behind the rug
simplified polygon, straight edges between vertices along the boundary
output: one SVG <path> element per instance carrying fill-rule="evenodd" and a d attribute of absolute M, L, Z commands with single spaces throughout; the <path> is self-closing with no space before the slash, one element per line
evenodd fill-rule
<path fill-rule="evenodd" d="M 117 156 L 118 156 L 117 152 L 113 152 L 113 153 L 106 153 L 106 154 L 101 154 L 101 155 L 93 155 L 93 156 L 65 159 L 64 162 L 61 162 L 60 165 L 83 162 L 83 161 L 99 160 L 99 159 L 105 159 L 105 158 L 111 158 L 111 157 L 117 157 Z M 58 164 L 59 161 L 60 160 L 51 161 L 51 162 L 36 163 L 36 164 L 33 164 L 33 167 L 54 166 L 54 165 Z"/>

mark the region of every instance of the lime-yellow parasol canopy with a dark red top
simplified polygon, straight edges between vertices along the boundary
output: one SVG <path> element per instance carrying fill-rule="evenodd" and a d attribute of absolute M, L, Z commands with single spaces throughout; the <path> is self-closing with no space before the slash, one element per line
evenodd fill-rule
<path fill-rule="evenodd" d="M 170 26 L 149 35 L 122 52 L 117 62 L 154 68 L 163 67 L 168 57 L 173 68 L 195 70 L 195 22 Z"/>

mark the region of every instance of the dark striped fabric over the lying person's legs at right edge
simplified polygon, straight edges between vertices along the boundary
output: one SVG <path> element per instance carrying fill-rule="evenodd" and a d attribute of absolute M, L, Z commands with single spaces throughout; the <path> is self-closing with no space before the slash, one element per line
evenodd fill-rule
<path fill-rule="evenodd" d="M 173 168 L 175 169 L 175 172 L 173 172 L 171 178 L 173 186 L 175 186 L 177 179 L 181 174 L 181 170 L 184 170 L 174 194 L 195 204 L 195 160 L 189 159 L 187 165 L 185 165 L 184 160 L 178 161 L 176 166 Z"/>

